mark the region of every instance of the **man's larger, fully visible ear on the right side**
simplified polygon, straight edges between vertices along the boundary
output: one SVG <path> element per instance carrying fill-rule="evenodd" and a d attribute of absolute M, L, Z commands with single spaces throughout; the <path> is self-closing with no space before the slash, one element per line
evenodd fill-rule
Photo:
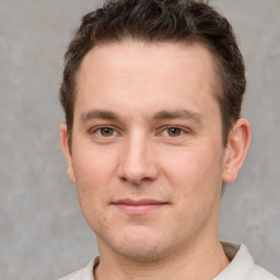
<path fill-rule="evenodd" d="M 238 171 L 245 160 L 249 143 L 249 122 L 245 118 L 240 118 L 229 136 L 223 162 L 223 182 L 230 183 L 237 178 Z"/>

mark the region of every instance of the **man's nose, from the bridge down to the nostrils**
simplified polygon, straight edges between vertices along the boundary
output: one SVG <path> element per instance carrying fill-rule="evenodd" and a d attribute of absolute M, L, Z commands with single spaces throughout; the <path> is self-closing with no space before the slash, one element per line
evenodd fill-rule
<path fill-rule="evenodd" d="M 137 186 L 154 180 L 159 170 L 152 149 L 151 140 L 144 136 L 135 135 L 127 139 L 120 154 L 119 178 Z"/>

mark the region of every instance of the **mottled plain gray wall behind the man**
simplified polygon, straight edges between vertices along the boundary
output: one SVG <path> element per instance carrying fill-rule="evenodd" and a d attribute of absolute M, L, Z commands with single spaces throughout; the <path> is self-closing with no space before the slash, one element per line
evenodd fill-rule
<path fill-rule="evenodd" d="M 1 0 L 0 279 L 49 280 L 96 254 L 59 145 L 62 56 L 102 1 Z M 232 22 L 247 65 L 253 143 L 222 200 L 220 236 L 280 276 L 280 1 L 210 1 Z"/>

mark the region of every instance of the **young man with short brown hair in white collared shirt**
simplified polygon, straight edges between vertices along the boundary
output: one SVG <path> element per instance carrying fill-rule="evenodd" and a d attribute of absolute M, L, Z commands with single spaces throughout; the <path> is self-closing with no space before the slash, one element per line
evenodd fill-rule
<path fill-rule="evenodd" d="M 221 243 L 243 164 L 244 65 L 228 21 L 191 0 L 117 0 L 66 54 L 61 145 L 100 257 L 67 279 L 276 279 Z"/>

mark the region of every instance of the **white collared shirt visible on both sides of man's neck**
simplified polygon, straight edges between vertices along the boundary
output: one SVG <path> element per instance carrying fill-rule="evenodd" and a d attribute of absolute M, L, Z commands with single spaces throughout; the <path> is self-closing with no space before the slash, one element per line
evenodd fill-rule
<path fill-rule="evenodd" d="M 254 264 L 253 257 L 245 245 L 236 245 L 229 242 L 221 243 L 231 262 L 213 280 L 279 280 L 264 268 Z M 59 280 L 94 280 L 93 270 L 98 262 L 100 259 L 96 257 L 85 268 Z"/>

